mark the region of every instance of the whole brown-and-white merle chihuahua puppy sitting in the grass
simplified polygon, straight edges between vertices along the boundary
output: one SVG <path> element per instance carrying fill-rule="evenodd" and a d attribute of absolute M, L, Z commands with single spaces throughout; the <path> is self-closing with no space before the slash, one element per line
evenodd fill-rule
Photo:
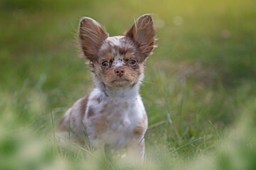
<path fill-rule="evenodd" d="M 114 37 L 92 18 L 82 18 L 80 46 L 96 88 L 60 119 L 56 133 L 61 139 L 90 142 L 95 148 L 126 148 L 128 155 L 143 159 L 148 123 L 139 86 L 146 57 L 156 47 L 155 35 L 149 14 L 140 16 L 124 35 Z"/>

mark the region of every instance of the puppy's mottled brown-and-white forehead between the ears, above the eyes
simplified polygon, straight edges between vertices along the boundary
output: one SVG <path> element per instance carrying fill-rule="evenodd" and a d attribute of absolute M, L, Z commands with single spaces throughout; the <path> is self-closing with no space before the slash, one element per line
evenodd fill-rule
<path fill-rule="evenodd" d="M 125 36 L 108 37 L 100 47 L 99 57 L 122 57 L 129 53 L 132 55 L 136 50 L 134 42 Z"/>

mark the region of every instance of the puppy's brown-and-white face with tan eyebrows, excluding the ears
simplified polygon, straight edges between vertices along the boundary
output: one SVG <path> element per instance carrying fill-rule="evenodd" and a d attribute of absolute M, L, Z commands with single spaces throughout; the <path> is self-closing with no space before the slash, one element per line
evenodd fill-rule
<path fill-rule="evenodd" d="M 107 38 L 100 47 L 94 72 L 107 86 L 122 87 L 134 84 L 144 72 L 144 61 L 137 47 L 125 36 Z"/>

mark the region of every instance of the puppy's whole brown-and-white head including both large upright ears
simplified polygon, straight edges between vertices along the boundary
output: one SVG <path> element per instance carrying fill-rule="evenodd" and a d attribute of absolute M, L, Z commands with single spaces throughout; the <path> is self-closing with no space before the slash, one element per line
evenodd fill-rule
<path fill-rule="evenodd" d="M 146 57 L 155 47 L 155 29 L 149 15 L 139 17 L 123 36 L 115 37 L 109 37 L 92 18 L 82 18 L 79 37 L 92 72 L 114 88 L 137 83 L 144 72 Z"/>

